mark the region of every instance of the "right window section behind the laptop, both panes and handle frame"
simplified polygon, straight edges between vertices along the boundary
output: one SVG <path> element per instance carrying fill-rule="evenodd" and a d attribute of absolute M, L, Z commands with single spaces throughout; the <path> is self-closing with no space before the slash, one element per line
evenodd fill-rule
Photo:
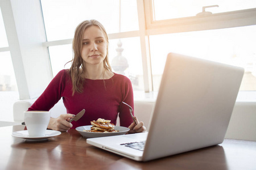
<path fill-rule="evenodd" d="M 158 91 L 170 52 L 244 67 L 240 91 L 256 90 L 255 1 L 150 0 L 144 3 L 154 91 Z M 218 7 L 205 9 L 212 13 L 197 15 L 203 6 L 213 5 Z"/>

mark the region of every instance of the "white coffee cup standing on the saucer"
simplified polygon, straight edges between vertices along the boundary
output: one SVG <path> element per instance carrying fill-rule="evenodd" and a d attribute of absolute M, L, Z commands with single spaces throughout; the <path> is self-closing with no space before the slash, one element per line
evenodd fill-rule
<path fill-rule="evenodd" d="M 30 137 L 43 137 L 49 124 L 51 114 L 49 111 L 26 111 L 24 121 Z"/>

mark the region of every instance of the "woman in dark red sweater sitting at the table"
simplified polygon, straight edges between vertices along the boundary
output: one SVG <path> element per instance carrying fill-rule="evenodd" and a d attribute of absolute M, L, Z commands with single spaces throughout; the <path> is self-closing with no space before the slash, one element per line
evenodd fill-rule
<path fill-rule="evenodd" d="M 133 89 L 130 80 L 115 74 L 109 65 L 108 35 L 97 20 L 80 23 L 73 39 L 73 59 L 69 70 L 61 70 L 49 83 L 43 94 L 28 111 L 49 110 L 63 97 L 68 114 L 49 121 L 48 129 L 67 131 L 70 128 L 90 125 L 90 121 L 104 118 L 129 127 L 129 133 L 145 131 L 143 122 L 134 124 L 129 108 L 133 107 Z M 68 121 L 85 109 L 79 121 Z"/>

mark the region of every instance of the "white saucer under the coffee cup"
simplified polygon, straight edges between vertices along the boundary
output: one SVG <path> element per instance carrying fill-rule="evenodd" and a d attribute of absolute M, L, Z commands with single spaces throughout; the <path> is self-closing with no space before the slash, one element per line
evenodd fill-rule
<path fill-rule="evenodd" d="M 14 131 L 13 134 L 11 134 L 11 135 L 13 137 L 23 138 L 23 139 L 28 139 L 28 140 L 42 140 L 42 139 L 47 139 L 47 138 L 55 137 L 55 136 L 60 135 L 60 134 L 61 134 L 60 131 L 46 130 L 46 135 L 43 136 L 43 137 L 30 137 L 28 135 L 28 131 L 27 130 L 22 130 L 22 131 Z"/>

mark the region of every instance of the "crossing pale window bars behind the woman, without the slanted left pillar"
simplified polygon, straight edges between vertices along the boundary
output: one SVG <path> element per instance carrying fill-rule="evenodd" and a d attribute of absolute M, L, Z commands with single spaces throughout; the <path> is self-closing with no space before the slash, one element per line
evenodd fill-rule
<path fill-rule="evenodd" d="M 137 0 L 137 8 L 139 20 L 138 31 L 110 33 L 108 36 L 110 40 L 140 37 L 144 92 L 153 91 L 149 36 L 256 25 L 256 8 L 222 12 L 209 16 L 189 16 L 167 20 L 154 20 L 152 0 Z M 43 42 L 43 46 L 45 47 L 64 44 L 72 44 L 72 39 Z"/>

